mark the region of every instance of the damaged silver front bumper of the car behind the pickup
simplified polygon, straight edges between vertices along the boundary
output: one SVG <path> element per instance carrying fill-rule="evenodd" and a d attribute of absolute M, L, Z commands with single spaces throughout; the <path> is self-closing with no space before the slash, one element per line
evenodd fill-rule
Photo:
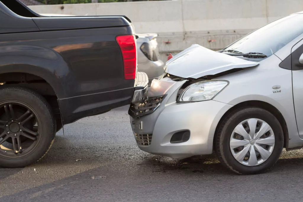
<path fill-rule="evenodd" d="M 212 153 L 217 124 L 232 106 L 213 100 L 176 102 L 186 81 L 153 80 L 148 99 L 130 106 L 132 130 L 142 151 L 177 159 Z"/>

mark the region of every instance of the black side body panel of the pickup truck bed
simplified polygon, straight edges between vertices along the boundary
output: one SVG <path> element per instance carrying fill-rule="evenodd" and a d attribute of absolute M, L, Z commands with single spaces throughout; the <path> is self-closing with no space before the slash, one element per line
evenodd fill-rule
<path fill-rule="evenodd" d="M 0 74 L 30 73 L 47 81 L 58 97 L 64 124 L 130 104 L 135 80 L 124 79 L 115 40 L 134 34 L 126 19 L 122 21 L 128 26 L 81 29 L 86 20 L 80 20 L 79 28 L 40 31 L 32 18 L 12 14 L 0 2 L 0 20 Z"/>

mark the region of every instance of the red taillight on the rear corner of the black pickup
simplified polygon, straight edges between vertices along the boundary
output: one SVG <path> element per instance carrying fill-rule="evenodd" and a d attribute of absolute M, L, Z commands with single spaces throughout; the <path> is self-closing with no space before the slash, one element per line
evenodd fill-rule
<path fill-rule="evenodd" d="M 137 72 L 137 47 L 135 35 L 117 36 L 116 41 L 122 52 L 124 78 L 126 80 L 135 79 Z"/>

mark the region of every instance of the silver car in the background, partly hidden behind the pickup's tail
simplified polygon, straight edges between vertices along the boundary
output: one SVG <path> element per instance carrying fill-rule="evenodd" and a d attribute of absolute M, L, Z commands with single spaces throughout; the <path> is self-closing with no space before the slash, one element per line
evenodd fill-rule
<path fill-rule="evenodd" d="M 138 71 L 145 72 L 149 85 L 153 79 L 158 79 L 164 73 L 164 62 L 160 60 L 157 36 L 158 34 L 137 34 Z"/>

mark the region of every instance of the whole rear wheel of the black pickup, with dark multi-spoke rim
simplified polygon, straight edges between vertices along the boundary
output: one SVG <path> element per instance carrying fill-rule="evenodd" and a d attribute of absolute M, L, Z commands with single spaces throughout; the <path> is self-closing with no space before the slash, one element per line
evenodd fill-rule
<path fill-rule="evenodd" d="M 48 102 L 35 91 L 0 89 L 0 167 L 24 167 L 52 146 L 56 121 Z"/>

